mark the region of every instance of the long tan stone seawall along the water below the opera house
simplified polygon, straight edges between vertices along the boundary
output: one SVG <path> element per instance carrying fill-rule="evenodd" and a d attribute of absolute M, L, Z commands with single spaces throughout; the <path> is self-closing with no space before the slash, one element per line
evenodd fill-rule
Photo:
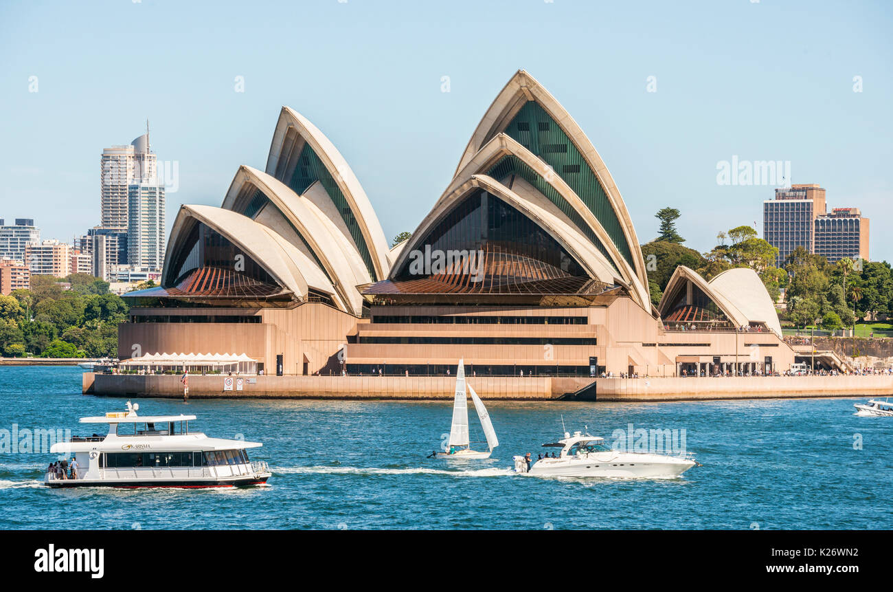
<path fill-rule="evenodd" d="M 232 389 L 224 390 L 225 378 Z M 271 399 L 448 399 L 450 376 L 189 376 L 189 398 Z M 592 384 L 586 377 L 469 377 L 480 396 L 490 400 L 549 401 Z M 597 401 L 692 401 L 893 395 L 893 376 L 769 376 L 597 378 Z M 85 373 L 83 392 L 100 396 L 182 398 L 179 376 Z M 591 400 L 591 390 L 588 393 Z"/>

